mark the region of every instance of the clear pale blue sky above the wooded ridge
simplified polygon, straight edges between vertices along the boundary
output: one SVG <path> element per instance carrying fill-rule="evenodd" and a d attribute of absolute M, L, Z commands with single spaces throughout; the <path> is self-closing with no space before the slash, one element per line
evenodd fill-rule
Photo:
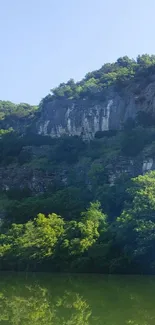
<path fill-rule="evenodd" d="M 38 104 L 106 62 L 155 54 L 155 0 L 0 0 L 0 99 Z"/>

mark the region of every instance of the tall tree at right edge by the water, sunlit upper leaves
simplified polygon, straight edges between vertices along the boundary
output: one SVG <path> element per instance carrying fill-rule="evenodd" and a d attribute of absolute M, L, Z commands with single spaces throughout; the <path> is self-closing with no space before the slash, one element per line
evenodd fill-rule
<path fill-rule="evenodd" d="M 130 200 L 117 218 L 124 256 L 141 271 L 155 269 L 155 172 L 132 180 Z"/>

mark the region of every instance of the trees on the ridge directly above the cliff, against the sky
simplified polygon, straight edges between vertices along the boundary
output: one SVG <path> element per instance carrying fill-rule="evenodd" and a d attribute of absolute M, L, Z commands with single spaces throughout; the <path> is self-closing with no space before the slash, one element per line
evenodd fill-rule
<path fill-rule="evenodd" d="M 153 81 L 152 75 L 155 73 L 155 55 L 139 55 L 136 60 L 128 56 L 119 58 L 114 63 L 106 63 L 99 70 L 86 74 L 84 79 L 75 82 L 70 79 L 66 83 L 61 83 L 58 87 L 51 89 L 40 103 L 40 107 L 55 99 L 104 99 L 105 91 L 113 86 L 117 91 L 122 87 L 137 84 L 135 92 L 138 94 L 148 82 Z"/>

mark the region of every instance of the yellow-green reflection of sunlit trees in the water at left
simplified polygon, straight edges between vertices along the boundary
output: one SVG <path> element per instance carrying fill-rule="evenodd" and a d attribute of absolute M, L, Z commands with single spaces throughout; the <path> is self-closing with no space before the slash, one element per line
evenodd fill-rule
<path fill-rule="evenodd" d="M 6 288 L 6 289 L 5 289 Z M 89 325 L 91 311 L 78 293 L 64 291 L 53 296 L 39 284 L 0 288 L 0 324 Z"/>

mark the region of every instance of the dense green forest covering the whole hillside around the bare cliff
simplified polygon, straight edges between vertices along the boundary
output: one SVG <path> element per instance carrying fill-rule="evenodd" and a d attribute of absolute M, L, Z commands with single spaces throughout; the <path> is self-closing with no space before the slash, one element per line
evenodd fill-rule
<path fill-rule="evenodd" d="M 123 57 L 60 84 L 38 106 L 0 102 L 0 170 L 19 178 L 0 188 L 1 270 L 155 273 L 155 171 L 142 170 L 155 156 L 153 112 L 137 112 L 121 130 L 89 142 L 22 134 L 4 123 L 33 120 L 55 98 L 101 99 L 107 87 L 131 83 L 138 93 L 154 75 L 155 56 Z M 20 182 L 24 170 L 43 181 L 53 175 L 52 182 L 34 189 Z"/>

